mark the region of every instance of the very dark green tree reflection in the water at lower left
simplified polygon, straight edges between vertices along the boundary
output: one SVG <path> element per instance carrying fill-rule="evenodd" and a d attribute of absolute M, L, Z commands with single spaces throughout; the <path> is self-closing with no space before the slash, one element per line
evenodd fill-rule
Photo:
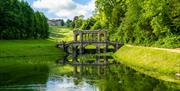
<path fill-rule="evenodd" d="M 48 79 L 47 65 L 10 65 L 0 71 L 0 86 L 44 84 Z"/>

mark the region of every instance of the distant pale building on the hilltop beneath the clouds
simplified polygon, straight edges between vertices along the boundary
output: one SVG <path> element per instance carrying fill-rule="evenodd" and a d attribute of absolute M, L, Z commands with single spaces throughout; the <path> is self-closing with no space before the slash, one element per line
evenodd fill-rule
<path fill-rule="evenodd" d="M 62 19 L 52 19 L 48 20 L 50 26 L 64 26 L 64 21 Z"/>

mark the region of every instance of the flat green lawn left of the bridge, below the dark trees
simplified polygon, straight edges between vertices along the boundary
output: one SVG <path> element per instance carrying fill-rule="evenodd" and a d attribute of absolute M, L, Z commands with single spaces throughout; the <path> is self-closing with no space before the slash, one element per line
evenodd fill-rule
<path fill-rule="evenodd" d="M 0 40 L 0 58 L 59 55 L 55 45 L 48 40 Z"/>

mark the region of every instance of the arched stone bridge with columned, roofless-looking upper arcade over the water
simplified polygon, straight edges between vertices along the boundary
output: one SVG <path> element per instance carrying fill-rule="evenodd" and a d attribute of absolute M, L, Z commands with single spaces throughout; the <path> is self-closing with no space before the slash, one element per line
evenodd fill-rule
<path fill-rule="evenodd" d="M 103 48 L 103 52 L 106 53 L 108 46 L 112 46 L 114 51 L 123 46 L 123 43 L 109 41 L 107 38 L 107 31 L 74 30 L 73 33 L 73 41 L 67 43 L 62 42 L 57 45 L 59 48 L 63 48 L 67 53 L 71 53 L 69 50 L 73 50 L 72 52 L 75 54 L 83 54 L 85 47 L 88 45 L 96 46 L 97 53 L 101 53 L 100 48 Z"/>

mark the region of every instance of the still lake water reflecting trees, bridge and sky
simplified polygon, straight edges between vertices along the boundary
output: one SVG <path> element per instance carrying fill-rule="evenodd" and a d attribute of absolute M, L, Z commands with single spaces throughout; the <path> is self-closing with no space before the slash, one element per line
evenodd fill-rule
<path fill-rule="evenodd" d="M 86 55 L 10 65 L 0 70 L 0 91 L 180 91 L 180 84 L 141 74 L 111 56 Z"/>

